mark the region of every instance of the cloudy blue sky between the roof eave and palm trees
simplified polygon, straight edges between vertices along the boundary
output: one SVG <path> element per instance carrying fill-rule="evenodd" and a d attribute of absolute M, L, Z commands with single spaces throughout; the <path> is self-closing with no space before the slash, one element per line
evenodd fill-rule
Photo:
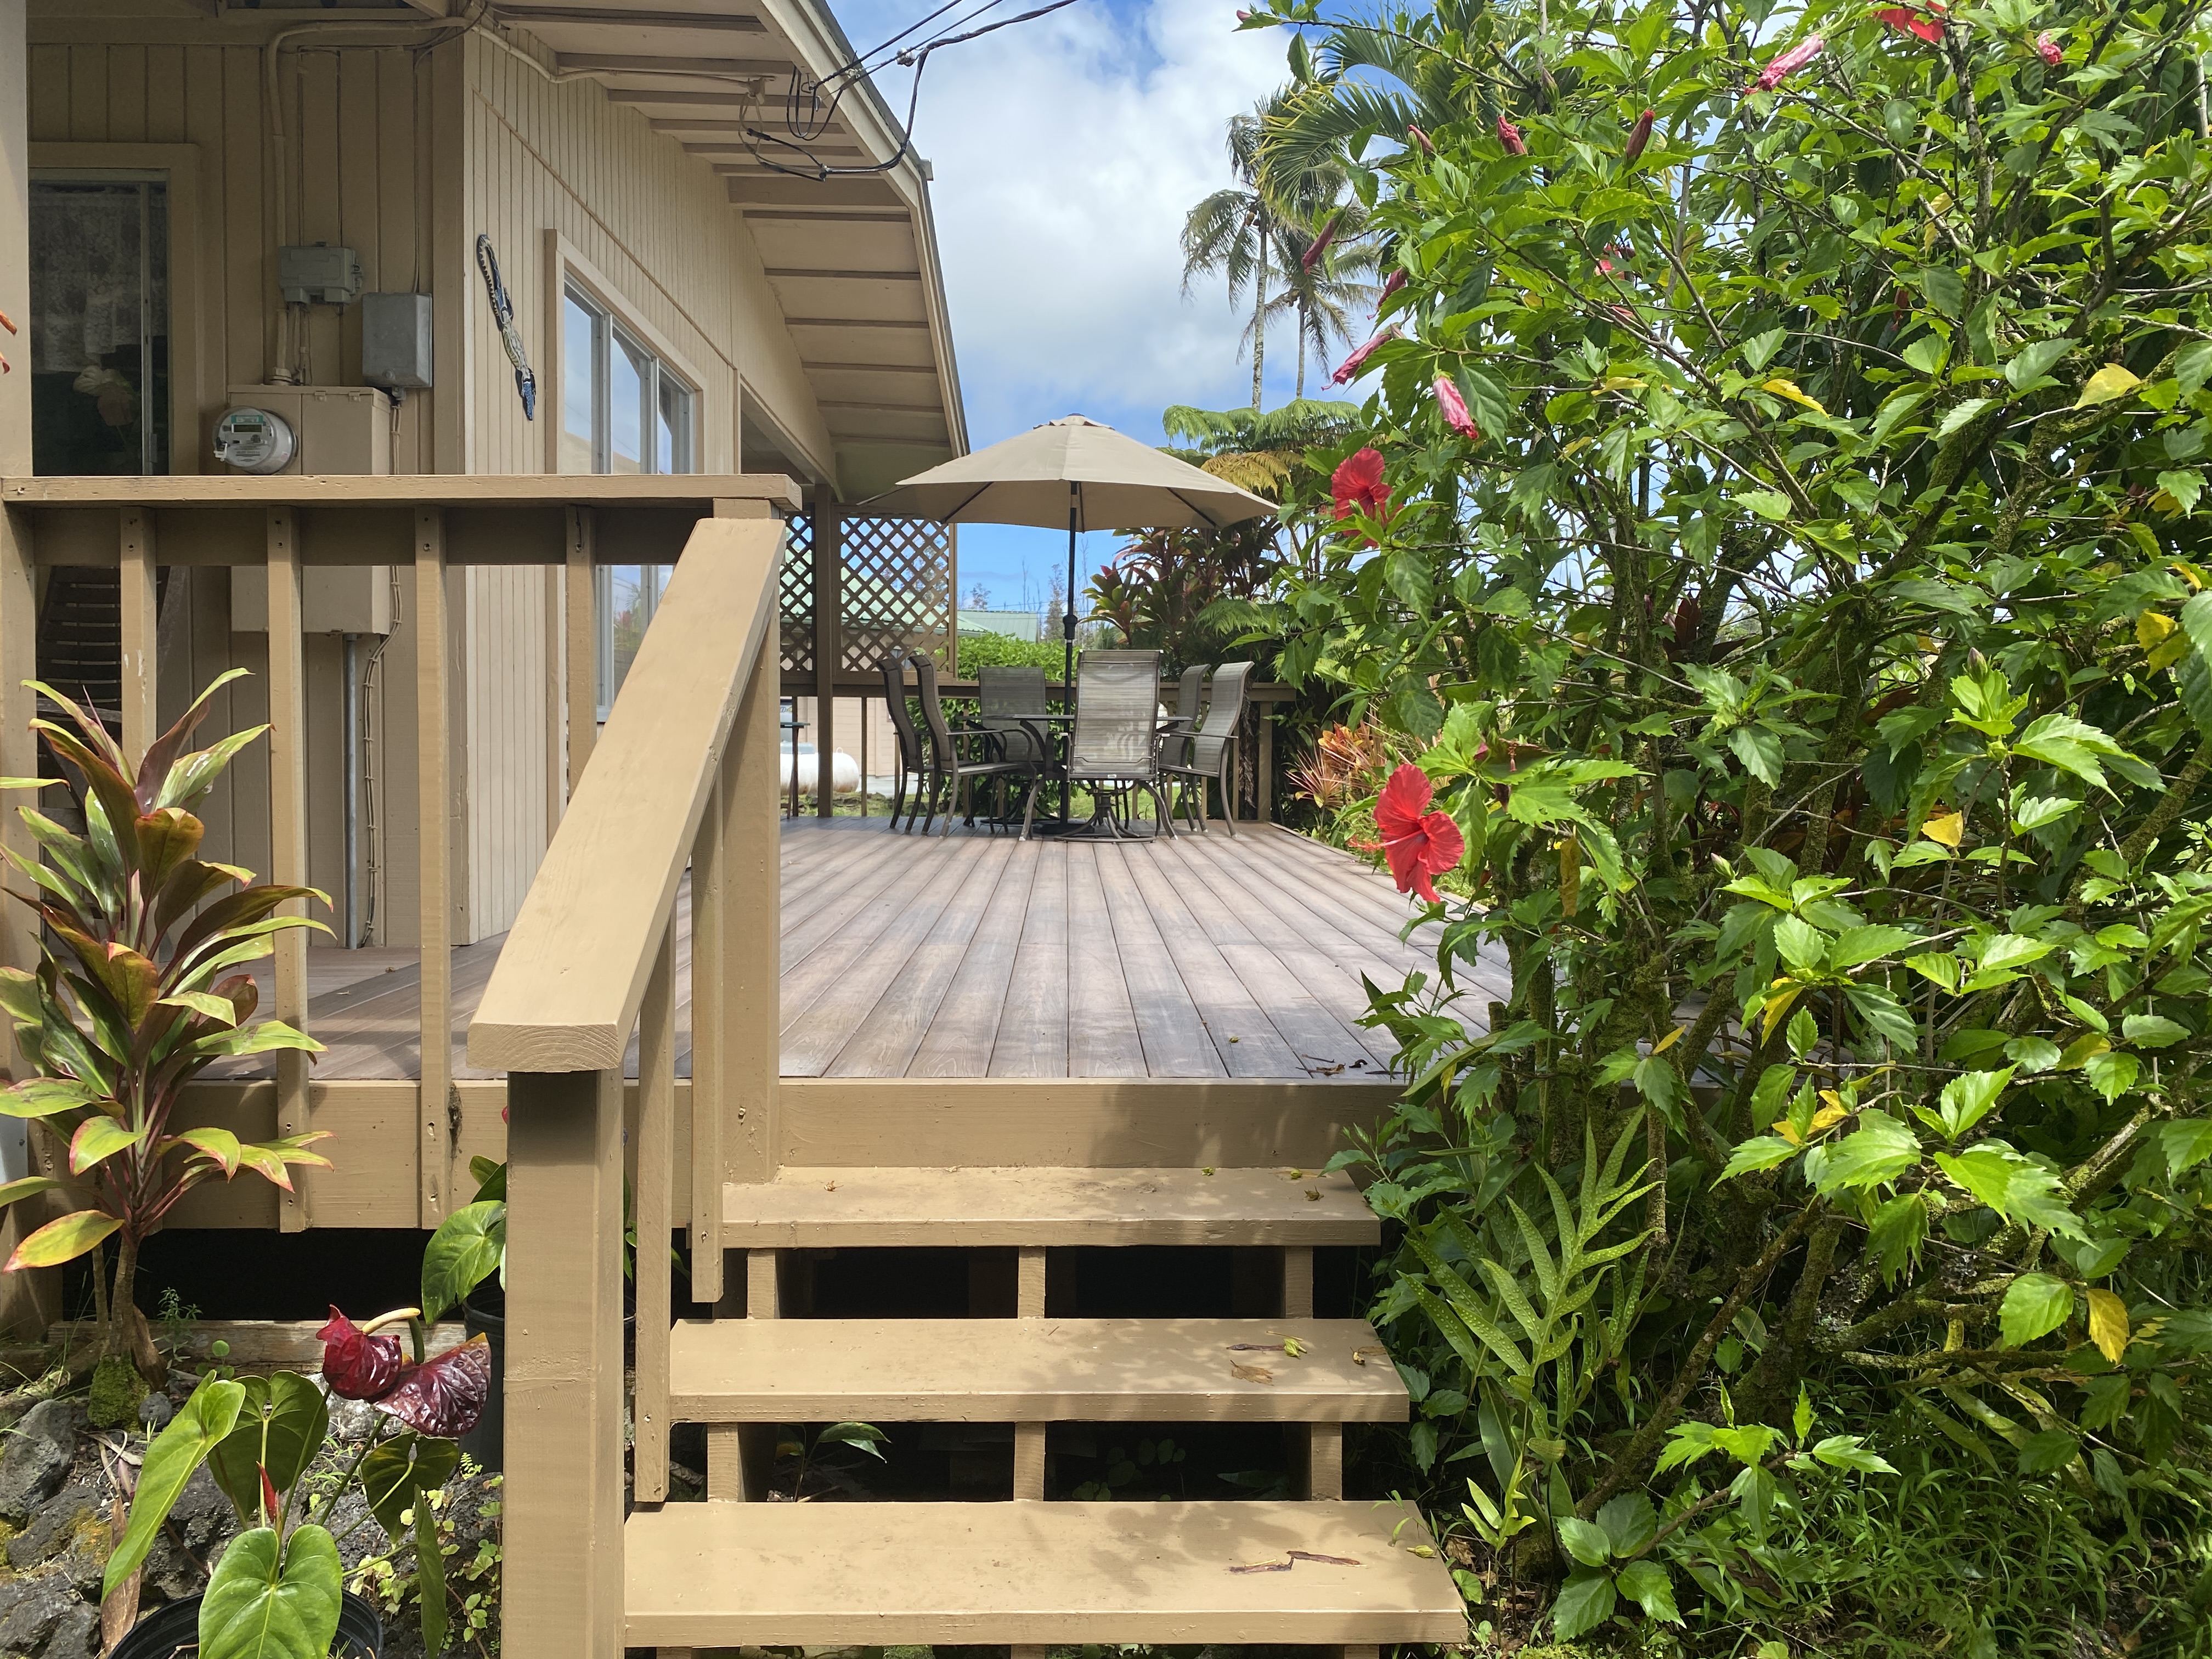
<path fill-rule="evenodd" d="M 984 18 L 1035 0 L 1004 0 Z M 869 49 L 936 0 L 836 0 Z M 962 7 L 967 11 L 967 7 Z M 953 11 L 951 18 L 962 15 Z M 1221 283 L 1181 294 L 1183 215 L 1230 181 L 1223 128 L 1285 77 L 1290 38 L 1239 33 L 1225 0 L 1077 0 L 1037 22 L 940 51 L 922 77 L 916 148 L 933 206 L 975 449 L 1084 414 L 1161 442 L 1170 403 L 1252 400 L 1243 319 Z M 894 108 L 907 71 L 880 77 Z M 1270 341 L 1267 403 L 1292 394 L 1294 343 Z M 1312 367 L 1307 389 L 1312 389 Z M 1117 538 L 1084 538 L 1082 580 Z M 960 593 L 1042 604 L 1066 535 L 962 526 Z"/>

